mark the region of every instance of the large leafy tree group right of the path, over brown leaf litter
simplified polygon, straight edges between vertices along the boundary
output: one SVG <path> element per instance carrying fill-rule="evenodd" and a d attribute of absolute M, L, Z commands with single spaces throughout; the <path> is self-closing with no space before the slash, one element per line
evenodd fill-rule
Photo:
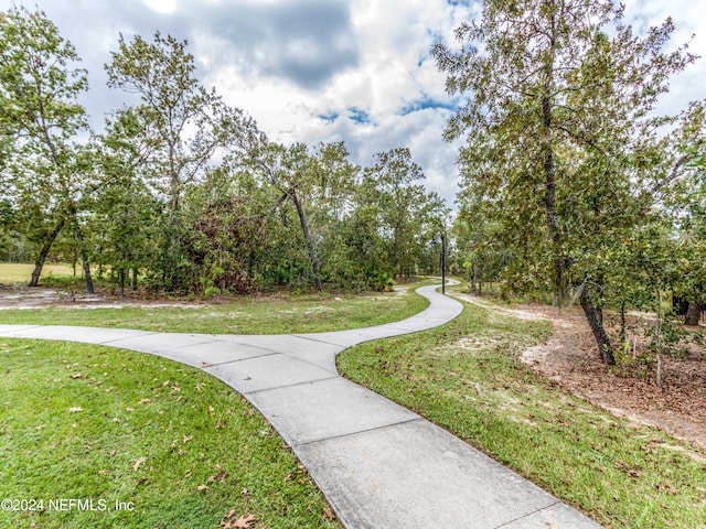
<path fill-rule="evenodd" d="M 625 309 L 648 307 L 660 364 L 677 341 L 665 294 L 696 316 L 704 301 L 706 110 L 657 114 L 670 79 L 697 57 L 671 42 L 671 20 L 640 37 L 623 10 L 485 0 L 457 30 L 460 50 L 432 53 L 463 97 L 446 134 L 467 138 L 453 229 L 469 279 L 580 303 L 607 364 L 629 345 Z M 619 311 L 618 342 L 606 306 Z"/>

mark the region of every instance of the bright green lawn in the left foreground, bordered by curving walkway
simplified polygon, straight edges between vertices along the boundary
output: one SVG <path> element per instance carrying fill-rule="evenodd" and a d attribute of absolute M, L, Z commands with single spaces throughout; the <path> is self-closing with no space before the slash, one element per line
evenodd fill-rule
<path fill-rule="evenodd" d="M 3 508 L 0 527 L 217 528 L 228 514 L 254 529 L 341 527 L 267 421 L 197 369 L 7 338 L 0 365 L 0 499 L 43 501 Z"/>

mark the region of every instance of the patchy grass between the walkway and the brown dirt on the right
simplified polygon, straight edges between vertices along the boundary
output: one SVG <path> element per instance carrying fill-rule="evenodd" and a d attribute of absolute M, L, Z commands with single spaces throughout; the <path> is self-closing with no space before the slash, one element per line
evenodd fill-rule
<path fill-rule="evenodd" d="M 523 365 L 546 322 L 467 304 L 453 322 L 371 342 L 341 373 L 453 432 L 610 528 L 706 528 L 706 453 L 574 398 Z"/>

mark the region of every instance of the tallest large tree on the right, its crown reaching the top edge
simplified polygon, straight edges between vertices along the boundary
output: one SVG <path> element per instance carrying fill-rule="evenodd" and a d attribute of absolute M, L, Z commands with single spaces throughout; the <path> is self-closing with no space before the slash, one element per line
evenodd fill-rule
<path fill-rule="evenodd" d="M 667 20 L 639 39 L 605 0 L 486 0 L 481 20 L 457 30 L 460 51 L 432 50 L 447 90 L 468 97 L 446 138 L 467 134 L 463 193 L 500 224 L 507 279 L 546 285 L 557 303 L 574 291 L 607 364 L 601 250 L 653 206 L 660 130 L 676 117 L 651 111 L 695 60 L 685 46 L 663 51 L 673 30 Z"/>

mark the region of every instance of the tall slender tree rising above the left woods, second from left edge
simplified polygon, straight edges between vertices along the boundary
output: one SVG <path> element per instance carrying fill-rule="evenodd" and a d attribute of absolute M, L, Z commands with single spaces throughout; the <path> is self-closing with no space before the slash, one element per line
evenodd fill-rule
<path fill-rule="evenodd" d="M 242 110 L 201 86 L 186 45 L 160 33 L 153 43 L 139 35 L 127 42 L 121 35 L 119 51 L 106 65 L 110 87 L 138 94 L 142 100 L 136 112 L 151 142 L 147 154 L 152 185 L 168 201 L 161 267 L 165 288 L 178 288 L 185 279 L 179 270 L 185 259 L 182 202 L 189 186 L 203 181 L 220 155 L 242 155 L 246 138 L 255 133 L 255 122 Z"/>

